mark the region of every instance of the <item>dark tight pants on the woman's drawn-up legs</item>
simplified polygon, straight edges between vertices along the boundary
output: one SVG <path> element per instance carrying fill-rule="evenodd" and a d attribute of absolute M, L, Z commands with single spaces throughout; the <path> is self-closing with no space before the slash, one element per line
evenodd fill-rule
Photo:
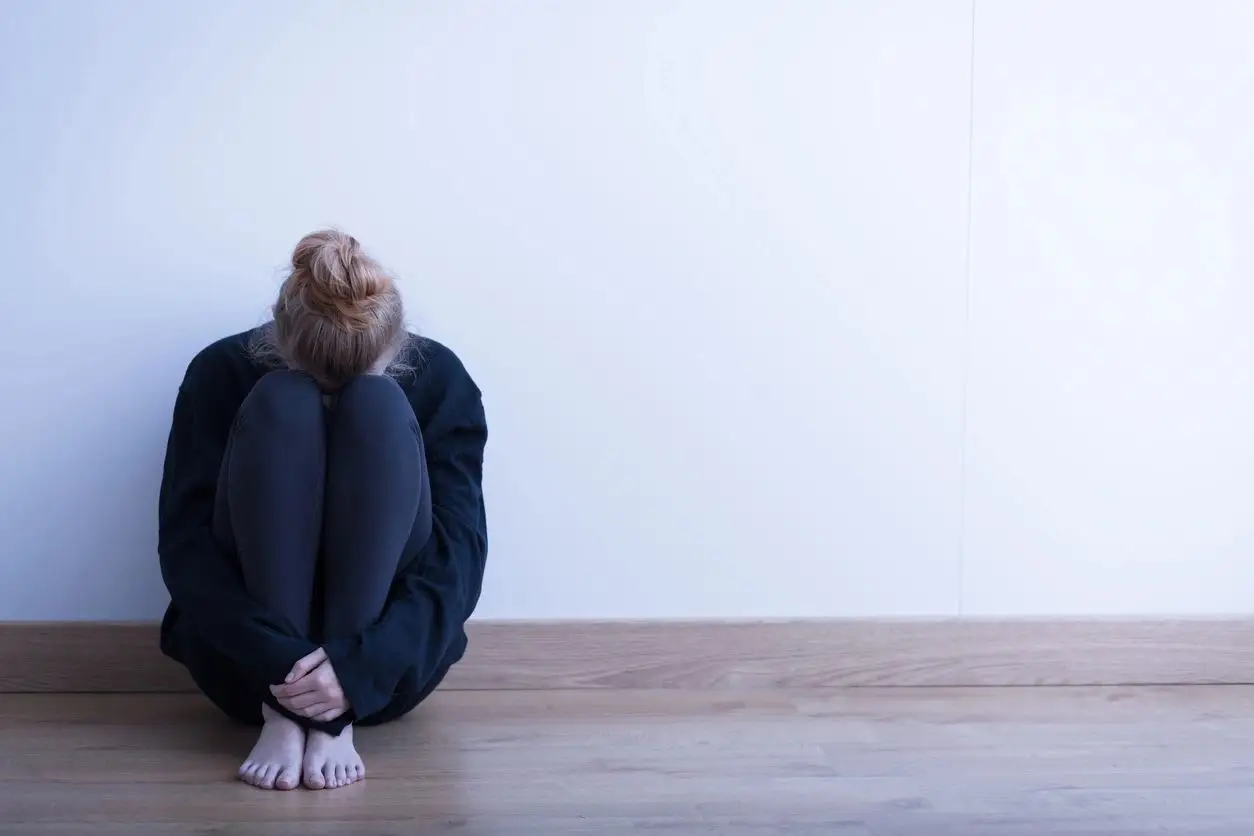
<path fill-rule="evenodd" d="M 311 640 L 367 628 L 431 534 L 423 436 L 400 386 L 361 376 L 326 406 L 305 375 L 262 377 L 236 415 L 213 529 L 250 594 Z"/>

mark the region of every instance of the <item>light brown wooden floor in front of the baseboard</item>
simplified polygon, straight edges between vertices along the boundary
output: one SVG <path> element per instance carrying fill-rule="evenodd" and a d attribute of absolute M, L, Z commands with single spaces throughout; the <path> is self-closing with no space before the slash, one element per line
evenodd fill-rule
<path fill-rule="evenodd" d="M 0 697 L 0 833 L 1254 835 L 1254 688 L 449 692 L 370 777 L 232 780 L 189 696 Z"/>

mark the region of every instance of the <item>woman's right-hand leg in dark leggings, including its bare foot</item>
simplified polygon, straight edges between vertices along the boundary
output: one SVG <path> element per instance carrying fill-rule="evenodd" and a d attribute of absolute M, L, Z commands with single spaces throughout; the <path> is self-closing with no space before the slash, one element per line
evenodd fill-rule
<path fill-rule="evenodd" d="M 329 429 L 325 501 L 322 620 L 327 638 L 341 638 L 379 618 L 398 568 L 431 533 L 423 439 L 391 379 L 366 375 L 341 390 Z M 352 727 L 339 737 L 310 732 L 303 771 L 315 790 L 365 777 Z"/>

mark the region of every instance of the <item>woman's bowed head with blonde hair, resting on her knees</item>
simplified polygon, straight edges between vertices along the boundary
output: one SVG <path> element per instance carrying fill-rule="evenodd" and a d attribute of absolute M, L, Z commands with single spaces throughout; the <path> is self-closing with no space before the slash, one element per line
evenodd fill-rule
<path fill-rule="evenodd" d="M 356 238 L 335 229 L 296 244 L 273 313 L 275 351 L 327 391 L 381 371 L 406 338 L 393 277 Z"/>

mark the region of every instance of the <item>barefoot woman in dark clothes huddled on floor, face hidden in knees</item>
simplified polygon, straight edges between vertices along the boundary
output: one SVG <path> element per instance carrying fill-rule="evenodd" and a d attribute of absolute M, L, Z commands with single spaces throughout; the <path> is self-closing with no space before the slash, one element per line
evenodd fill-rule
<path fill-rule="evenodd" d="M 188 366 L 159 500 L 162 651 L 234 719 L 240 777 L 365 776 L 355 723 L 395 719 L 466 647 L 487 556 L 479 389 L 409 335 L 355 238 L 306 236 L 268 325 Z"/>

